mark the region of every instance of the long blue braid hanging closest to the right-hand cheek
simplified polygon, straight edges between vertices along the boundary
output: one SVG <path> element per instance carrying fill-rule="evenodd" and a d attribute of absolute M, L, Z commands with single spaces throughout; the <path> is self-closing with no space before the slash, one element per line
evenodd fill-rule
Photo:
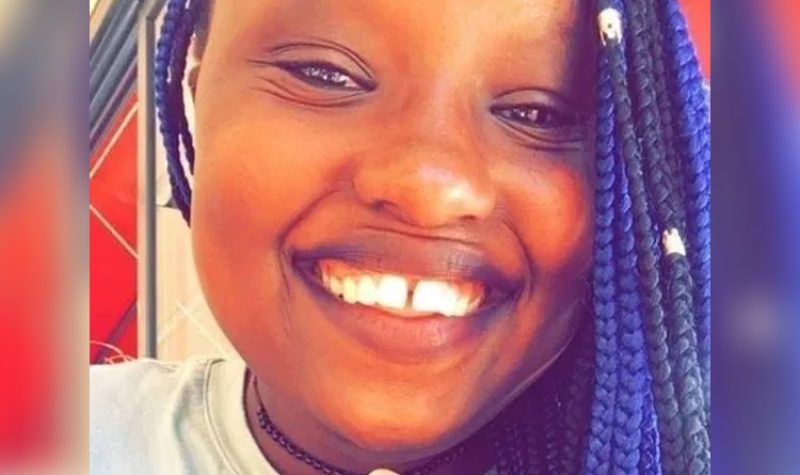
<path fill-rule="evenodd" d="M 595 191 L 594 310 L 596 381 L 592 400 L 586 473 L 611 469 L 612 431 L 618 386 L 617 320 L 614 284 L 614 103 L 608 59 L 599 57 L 597 185 Z"/>

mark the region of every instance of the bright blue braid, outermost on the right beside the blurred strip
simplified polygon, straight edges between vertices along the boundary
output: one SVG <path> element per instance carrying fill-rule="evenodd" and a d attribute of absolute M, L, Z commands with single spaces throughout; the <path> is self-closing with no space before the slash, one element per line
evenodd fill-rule
<path fill-rule="evenodd" d="M 664 36 L 672 59 L 671 88 L 678 99 L 676 116 L 688 158 L 689 258 L 695 283 L 699 359 L 703 373 L 706 416 L 710 413 L 711 370 L 711 175 L 710 115 L 703 77 L 686 19 L 676 0 L 663 2 Z"/>

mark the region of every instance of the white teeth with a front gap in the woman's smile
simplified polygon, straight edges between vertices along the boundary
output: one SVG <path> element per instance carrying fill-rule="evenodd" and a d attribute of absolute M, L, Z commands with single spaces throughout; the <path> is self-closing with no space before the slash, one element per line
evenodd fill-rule
<path fill-rule="evenodd" d="M 490 293 L 479 281 L 378 272 L 336 259 L 318 260 L 314 275 L 333 297 L 405 318 L 467 317 L 485 306 Z"/>

